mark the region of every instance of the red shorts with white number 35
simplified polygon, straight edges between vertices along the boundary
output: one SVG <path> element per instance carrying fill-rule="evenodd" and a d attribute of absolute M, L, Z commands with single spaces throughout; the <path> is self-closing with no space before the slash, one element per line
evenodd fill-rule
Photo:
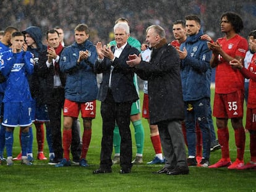
<path fill-rule="evenodd" d="M 244 115 L 244 91 L 234 93 L 215 93 L 213 116 L 217 118 L 237 118 Z"/>

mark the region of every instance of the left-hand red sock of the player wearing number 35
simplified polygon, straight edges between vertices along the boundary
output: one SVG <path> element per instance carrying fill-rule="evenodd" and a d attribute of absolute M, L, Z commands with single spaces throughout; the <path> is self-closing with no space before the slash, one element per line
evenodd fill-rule
<path fill-rule="evenodd" d="M 218 140 L 221 145 L 221 156 L 223 159 L 230 159 L 229 158 L 229 131 L 228 127 L 225 128 L 218 128 Z"/>

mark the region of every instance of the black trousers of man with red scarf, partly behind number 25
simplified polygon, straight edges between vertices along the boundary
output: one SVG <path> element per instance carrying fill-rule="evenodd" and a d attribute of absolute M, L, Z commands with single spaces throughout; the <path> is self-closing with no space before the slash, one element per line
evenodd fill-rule
<path fill-rule="evenodd" d="M 63 158 L 62 133 L 61 133 L 61 112 L 64 105 L 64 88 L 54 88 L 51 102 L 48 102 L 48 114 L 51 125 L 53 150 L 56 159 Z M 79 127 L 80 128 L 80 127 Z M 81 154 L 80 135 L 77 130 L 77 122 L 72 125 L 71 153 L 74 161 L 79 161 Z"/>

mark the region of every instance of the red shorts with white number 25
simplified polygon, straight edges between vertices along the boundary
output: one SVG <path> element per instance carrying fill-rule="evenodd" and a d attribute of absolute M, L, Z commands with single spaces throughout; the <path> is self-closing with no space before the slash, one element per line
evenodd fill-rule
<path fill-rule="evenodd" d="M 63 107 L 63 115 L 68 117 L 78 117 L 81 111 L 82 117 L 95 118 L 96 115 L 96 100 L 88 102 L 74 102 L 65 99 Z"/>

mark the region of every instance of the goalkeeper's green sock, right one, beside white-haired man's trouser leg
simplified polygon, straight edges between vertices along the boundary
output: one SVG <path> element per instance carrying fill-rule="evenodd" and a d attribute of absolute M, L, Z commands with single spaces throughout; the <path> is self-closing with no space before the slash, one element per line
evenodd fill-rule
<path fill-rule="evenodd" d="M 136 120 L 132 122 L 132 125 L 134 125 L 135 130 L 135 142 L 137 146 L 136 156 L 142 156 L 144 148 L 144 128 L 142 125 L 142 120 Z"/>

